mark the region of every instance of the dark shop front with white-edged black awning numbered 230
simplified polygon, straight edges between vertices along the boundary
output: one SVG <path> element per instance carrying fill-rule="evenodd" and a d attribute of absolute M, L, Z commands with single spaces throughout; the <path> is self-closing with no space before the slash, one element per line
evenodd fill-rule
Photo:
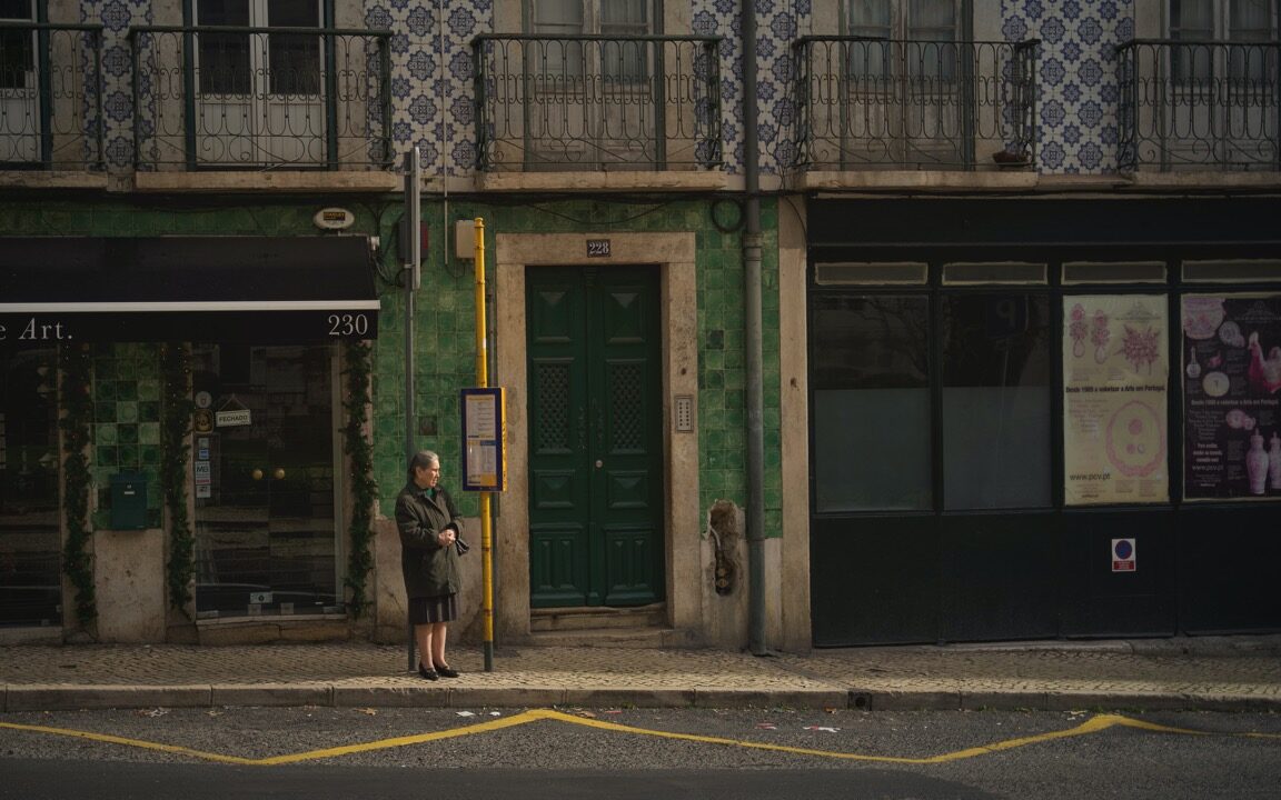
<path fill-rule="evenodd" d="M 163 640 L 165 580 L 201 621 L 342 612 L 365 237 L 6 238 L 0 287 L 0 626 L 96 596 L 101 639 Z M 64 580 L 78 552 L 96 594 Z"/>

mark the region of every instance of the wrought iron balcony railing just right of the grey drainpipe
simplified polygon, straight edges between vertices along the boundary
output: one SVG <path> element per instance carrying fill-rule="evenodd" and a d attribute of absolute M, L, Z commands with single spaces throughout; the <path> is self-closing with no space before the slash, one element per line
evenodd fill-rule
<path fill-rule="evenodd" d="M 1036 41 L 806 36 L 793 47 L 799 169 L 974 170 L 1035 159 Z"/>

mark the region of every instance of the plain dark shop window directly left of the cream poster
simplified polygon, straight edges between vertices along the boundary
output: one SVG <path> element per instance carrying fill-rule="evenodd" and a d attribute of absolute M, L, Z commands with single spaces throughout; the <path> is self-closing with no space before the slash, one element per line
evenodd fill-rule
<path fill-rule="evenodd" d="M 942 301 L 944 507 L 1050 504 L 1048 300 Z"/>

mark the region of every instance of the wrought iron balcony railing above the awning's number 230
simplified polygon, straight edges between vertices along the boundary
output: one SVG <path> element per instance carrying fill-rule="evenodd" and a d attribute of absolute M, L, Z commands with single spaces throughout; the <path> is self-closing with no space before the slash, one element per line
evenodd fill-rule
<path fill-rule="evenodd" d="M 138 169 L 388 169 L 391 33 L 135 27 Z"/>

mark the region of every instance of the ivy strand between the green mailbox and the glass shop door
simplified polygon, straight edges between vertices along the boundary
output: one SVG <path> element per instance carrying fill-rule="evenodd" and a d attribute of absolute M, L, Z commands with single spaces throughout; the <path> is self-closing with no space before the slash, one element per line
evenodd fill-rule
<path fill-rule="evenodd" d="M 187 515 L 187 460 L 191 456 L 191 352 L 169 343 L 160 352 L 164 402 L 160 429 L 160 490 L 169 516 L 169 561 L 165 564 L 169 605 L 188 618 L 191 581 L 196 575 L 196 539 Z"/>

